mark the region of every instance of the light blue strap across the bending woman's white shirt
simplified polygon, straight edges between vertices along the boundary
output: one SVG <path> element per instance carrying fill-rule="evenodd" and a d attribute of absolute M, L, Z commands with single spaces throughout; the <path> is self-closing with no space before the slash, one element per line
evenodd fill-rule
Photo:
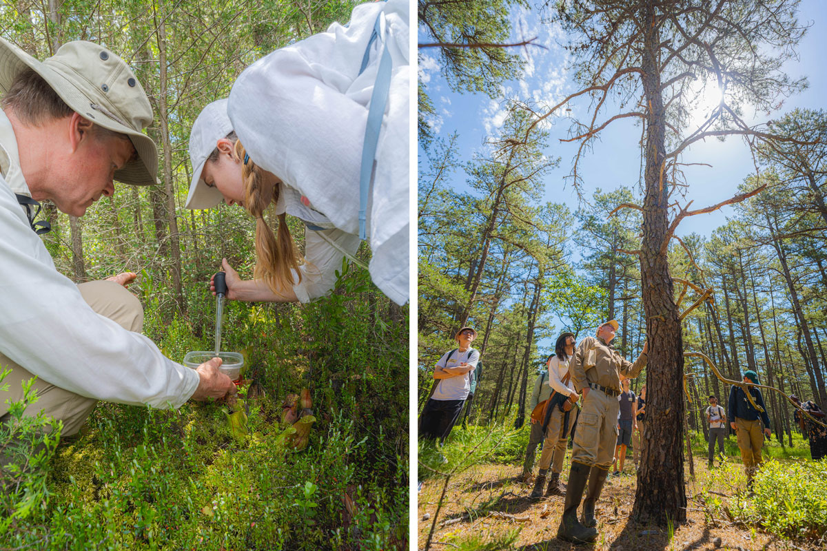
<path fill-rule="evenodd" d="M 362 56 L 359 74 L 366 69 L 370 57 L 370 47 L 381 35 L 382 13 L 376 17 L 373 32 L 370 33 L 365 55 Z M 390 90 L 390 52 L 385 43 L 382 48 L 382 55 L 379 61 L 379 69 L 376 71 L 376 80 L 373 84 L 373 93 L 370 94 L 370 108 L 367 113 L 367 124 L 365 126 L 365 142 L 362 145 L 361 170 L 359 174 L 359 239 L 367 239 L 367 197 L 370 192 L 370 184 L 375 175 L 376 144 L 379 142 L 379 133 L 382 129 L 382 117 L 385 115 L 385 105 L 388 102 L 388 91 Z"/>

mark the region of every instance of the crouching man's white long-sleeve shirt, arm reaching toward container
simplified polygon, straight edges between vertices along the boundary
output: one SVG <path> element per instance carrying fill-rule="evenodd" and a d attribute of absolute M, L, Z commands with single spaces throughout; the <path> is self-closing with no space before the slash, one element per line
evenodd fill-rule
<path fill-rule="evenodd" d="M 179 407 L 198 373 L 95 313 L 55 268 L 15 193 L 31 196 L 0 111 L 0 352 L 56 387 L 124 404 Z"/>

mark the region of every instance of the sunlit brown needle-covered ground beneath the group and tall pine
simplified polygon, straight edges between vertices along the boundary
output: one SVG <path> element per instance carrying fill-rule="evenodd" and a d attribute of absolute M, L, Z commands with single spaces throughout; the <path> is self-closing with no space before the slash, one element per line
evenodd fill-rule
<path fill-rule="evenodd" d="M 686 463 L 686 523 L 674 527 L 638 525 L 630 520 L 637 477 L 630 460 L 625 473 L 609 475 L 597 503 L 597 529 L 600 536 L 592 547 L 568 544 L 557 539 L 557 526 L 563 509 L 563 496 L 530 501 L 533 484 L 519 482 L 521 468 L 512 465 L 484 464 L 452 477 L 437 519 L 432 549 L 453 549 L 468 539 L 492 542 L 519 534 L 509 547 L 522 551 L 552 549 L 613 549 L 616 551 L 662 551 L 665 549 L 824 549 L 820 544 L 791 542 L 764 532 L 753 525 L 727 520 L 719 511 L 747 499 L 743 491 L 743 468 L 739 462 L 725 463 L 711 471 L 705 458 L 695 460 L 696 477 L 689 476 Z M 568 477 L 569 463 L 562 477 Z M 534 472 L 537 472 L 535 466 Z M 741 474 L 739 474 L 741 473 Z M 418 542 L 424 549 L 433 515 L 442 492 L 443 480 L 424 483 L 418 496 Z M 717 501 L 715 501 L 717 498 Z M 470 513 L 470 515 L 469 515 Z M 501 514 L 510 515 L 504 516 Z M 427 516 L 426 516 L 427 514 Z M 722 518 L 724 517 L 724 518 Z M 427 519 L 427 520 L 425 520 Z M 460 519 L 460 520 L 457 520 Z M 720 539 L 719 542 L 717 539 Z"/>

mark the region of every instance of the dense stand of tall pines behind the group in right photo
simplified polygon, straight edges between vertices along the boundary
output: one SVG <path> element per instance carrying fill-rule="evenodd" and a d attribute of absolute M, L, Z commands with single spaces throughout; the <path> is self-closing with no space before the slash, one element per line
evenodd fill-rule
<path fill-rule="evenodd" d="M 434 96 L 445 93 L 444 88 L 431 93 L 428 79 L 420 79 L 419 403 L 424 403 L 433 384 L 433 364 L 455 347 L 453 332 L 461 325 L 473 325 L 480 331 L 474 346 L 480 350 L 485 371 L 470 418 L 484 424 L 509 420 L 520 426 L 527 416 L 534 379 L 562 331 L 571 330 L 580 340 L 591 335 L 599 321 L 616 318 L 620 330 L 615 346 L 629 359 L 643 347 L 646 323 L 638 259 L 643 216 L 639 207 L 618 209 L 643 204 L 643 161 L 637 186 L 605 182 L 596 191 L 581 194 L 577 163 L 600 159 L 578 153 L 571 161 L 574 176 L 570 172 L 569 179 L 563 178 L 565 169 L 559 165 L 570 159 L 555 156 L 557 140 L 550 139 L 549 126 L 537 124 L 538 115 L 545 111 L 530 98 L 514 99 L 519 93 L 514 93 L 518 87 L 512 83 L 532 57 L 521 50 L 537 46 L 529 40 L 532 35 L 523 33 L 523 40 L 514 39 L 513 21 L 536 21 L 532 17 L 541 25 L 559 21 L 562 16 L 553 9 L 535 13 L 522 2 L 487 2 L 479 10 L 430 3 L 419 7 L 420 56 L 438 60 L 439 74 L 452 92 L 485 94 L 508 113 L 500 127 L 482 136 L 472 158 L 461 158 L 457 133 L 440 131 L 443 121 Z M 514 20 L 504 15 L 523 9 L 524 15 Z M 672 6 L 662 10 L 669 12 Z M 608 17 L 605 12 L 598 7 L 588 12 L 584 4 L 583 12 L 572 8 L 571 18 L 582 23 L 588 17 Z M 794 31 L 791 27 L 788 44 L 794 45 L 800 32 L 799 27 Z M 609 62 L 600 57 L 598 38 L 590 40 L 587 36 L 582 46 L 596 48 L 588 66 L 605 67 Z M 585 77 L 578 73 L 578 78 Z M 605 93 L 601 82 L 597 77 L 590 82 L 595 94 L 592 105 L 605 101 L 605 96 L 600 97 L 601 90 Z M 786 75 L 773 82 L 786 82 Z M 505 90 L 509 100 L 503 98 Z M 634 106 L 633 93 L 625 93 L 617 102 Z M 609 100 L 607 105 L 614 103 Z M 711 288 L 715 299 L 681 322 L 684 351 L 707 354 L 725 378 L 740 380 L 740 373 L 753 369 L 763 384 L 824 404 L 827 112 L 820 107 L 772 113 L 767 134 L 782 141 L 749 140 L 755 169 L 743 173 L 731 191 L 736 195 L 764 184 L 767 188 L 736 202 L 726 223 L 708 235 L 672 240 L 667 258 L 680 311 L 700 296 L 691 285 Z M 591 121 L 571 123 L 566 137 L 590 136 L 609 115 L 598 116 L 595 110 Z M 681 116 L 686 113 L 678 112 L 669 121 L 686 125 Z M 634 132 L 638 135 L 630 140 L 642 138 L 642 131 Z M 588 150 L 589 145 L 582 149 Z M 681 170 L 664 179 L 670 187 L 674 219 L 681 208 L 688 208 L 686 189 L 692 182 Z M 579 207 L 543 201 L 548 187 L 561 193 L 571 190 L 564 188 L 566 182 L 574 183 L 580 194 Z M 686 288 L 679 280 L 691 285 Z M 719 382 L 700 359 L 687 360 L 686 373 L 693 400 L 687 406 L 690 427 L 705 431 L 701 414 L 708 405 L 706 397 L 715 394 L 725 406 L 729 386 Z M 644 372 L 633 381 L 633 389 L 639 390 L 645 381 Z M 773 438 L 786 435 L 790 442 L 791 431 L 796 430 L 790 404 L 774 392 L 765 392 L 765 397 Z"/>

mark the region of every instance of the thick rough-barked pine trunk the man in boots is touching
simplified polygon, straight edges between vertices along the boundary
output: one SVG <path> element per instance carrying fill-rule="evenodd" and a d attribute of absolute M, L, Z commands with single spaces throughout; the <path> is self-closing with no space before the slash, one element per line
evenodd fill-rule
<path fill-rule="evenodd" d="M 667 260 L 669 186 L 662 182 L 666 157 L 665 109 L 659 68 L 660 36 L 654 2 L 640 7 L 643 27 L 643 94 L 646 120 L 643 241 L 640 252 L 643 311 L 649 340 L 647 439 L 643 444 L 632 514 L 639 521 L 686 520 L 683 436 L 683 337 Z"/>

